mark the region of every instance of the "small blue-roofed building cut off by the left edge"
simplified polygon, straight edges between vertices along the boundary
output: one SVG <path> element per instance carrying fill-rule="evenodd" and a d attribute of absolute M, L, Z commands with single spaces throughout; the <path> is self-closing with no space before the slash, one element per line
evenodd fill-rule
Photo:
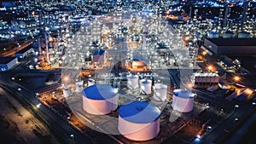
<path fill-rule="evenodd" d="M 18 59 L 15 57 L 0 57 L 0 72 L 9 71 L 17 63 Z"/>

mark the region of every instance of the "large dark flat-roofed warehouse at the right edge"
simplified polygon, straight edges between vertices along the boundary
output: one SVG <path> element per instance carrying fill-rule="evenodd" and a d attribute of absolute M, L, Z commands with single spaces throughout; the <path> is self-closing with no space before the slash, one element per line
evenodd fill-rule
<path fill-rule="evenodd" d="M 209 55 L 256 55 L 256 38 L 206 38 L 201 49 Z"/>

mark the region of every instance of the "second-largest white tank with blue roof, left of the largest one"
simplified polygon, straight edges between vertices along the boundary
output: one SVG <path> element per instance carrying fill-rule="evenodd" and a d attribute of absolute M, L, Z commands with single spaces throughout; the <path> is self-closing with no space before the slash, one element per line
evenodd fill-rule
<path fill-rule="evenodd" d="M 96 84 L 83 90 L 83 109 L 95 115 L 108 114 L 118 107 L 117 89 L 111 85 Z"/>

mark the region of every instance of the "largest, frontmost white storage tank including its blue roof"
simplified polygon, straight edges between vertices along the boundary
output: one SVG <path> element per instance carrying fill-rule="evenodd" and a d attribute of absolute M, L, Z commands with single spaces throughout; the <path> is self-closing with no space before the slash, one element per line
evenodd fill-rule
<path fill-rule="evenodd" d="M 119 108 L 118 130 L 133 141 L 148 141 L 160 132 L 160 109 L 154 105 L 134 101 Z"/>

